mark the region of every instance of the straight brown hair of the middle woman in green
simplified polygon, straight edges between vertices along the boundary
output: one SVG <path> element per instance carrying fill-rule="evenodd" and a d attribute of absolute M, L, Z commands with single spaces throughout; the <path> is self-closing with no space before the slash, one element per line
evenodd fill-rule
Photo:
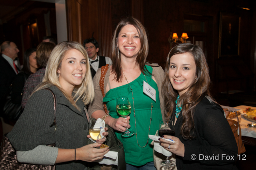
<path fill-rule="evenodd" d="M 112 70 L 115 73 L 115 79 L 117 82 L 122 80 L 122 72 L 121 72 L 121 59 L 117 57 L 117 41 L 118 41 L 118 36 L 120 31 L 122 30 L 122 28 L 124 26 L 127 25 L 132 25 L 134 26 L 140 36 L 140 44 L 141 44 L 141 48 L 140 51 L 138 53 L 138 56 L 136 58 L 136 62 L 140 65 L 140 71 L 143 74 L 150 74 L 148 72 L 148 70 L 145 68 L 145 62 L 148 56 L 148 37 L 147 37 L 147 33 L 145 31 L 144 26 L 142 25 L 142 23 L 140 23 L 139 20 L 137 20 L 134 17 L 127 17 L 123 20 L 121 20 L 119 22 L 119 24 L 116 26 L 116 30 L 113 34 L 113 39 L 112 39 L 112 61 L 113 61 L 113 65 L 112 65 Z"/>

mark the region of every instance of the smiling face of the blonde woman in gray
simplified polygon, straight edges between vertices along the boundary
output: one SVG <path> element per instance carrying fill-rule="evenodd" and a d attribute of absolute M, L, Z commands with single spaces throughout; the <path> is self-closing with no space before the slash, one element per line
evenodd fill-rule
<path fill-rule="evenodd" d="M 71 49 L 64 56 L 57 72 L 59 73 L 59 82 L 64 90 L 81 85 L 86 73 L 86 59 L 80 51 Z"/>

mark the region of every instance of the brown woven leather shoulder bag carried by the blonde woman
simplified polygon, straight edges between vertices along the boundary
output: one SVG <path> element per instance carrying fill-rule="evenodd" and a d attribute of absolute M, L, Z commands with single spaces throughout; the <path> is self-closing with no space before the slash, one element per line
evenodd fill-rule
<path fill-rule="evenodd" d="M 51 89 L 46 88 L 51 91 Z M 52 92 L 54 99 L 54 122 L 52 126 L 55 126 L 56 130 L 56 96 Z M 23 164 L 17 161 L 16 150 L 12 147 L 11 142 L 7 138 L 7 133 L 4 134 L 1 142 L 1 155 L 0 155 L 0 167 L 1 170 L 55 170 L 55 164 L 52 165 L 38 165 L 38 164 Z M 48 144 L 47 146 L 55 147 L 55 144 Z"/>

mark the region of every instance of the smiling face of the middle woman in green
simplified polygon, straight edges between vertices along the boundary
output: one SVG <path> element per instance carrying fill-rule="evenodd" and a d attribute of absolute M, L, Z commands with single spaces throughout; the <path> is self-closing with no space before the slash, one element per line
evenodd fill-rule
<path fill-rule="evenodd" d="M 140 51 L 140 37 L 137 29 L 132 25 L 124 26 L 118 35 L 117 47 L 120 57 L 137 57 Z"/>

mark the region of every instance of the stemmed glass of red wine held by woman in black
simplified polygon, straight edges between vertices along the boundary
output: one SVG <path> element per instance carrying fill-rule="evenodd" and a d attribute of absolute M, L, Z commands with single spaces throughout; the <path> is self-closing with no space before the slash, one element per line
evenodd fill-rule
<path fill-rule="evenodd" d="M 158 134 L 161 137 L 163 137 L 163 135 L 175 136 L 173 121 L 170 121 L 170 120 L 160 121 Z M 168 156 L 166 157 L 167 157 L 166 160 L 161 161 L 160 164 L 163 166 L 174 166 L 175 161 L 169 160 Z"/>

